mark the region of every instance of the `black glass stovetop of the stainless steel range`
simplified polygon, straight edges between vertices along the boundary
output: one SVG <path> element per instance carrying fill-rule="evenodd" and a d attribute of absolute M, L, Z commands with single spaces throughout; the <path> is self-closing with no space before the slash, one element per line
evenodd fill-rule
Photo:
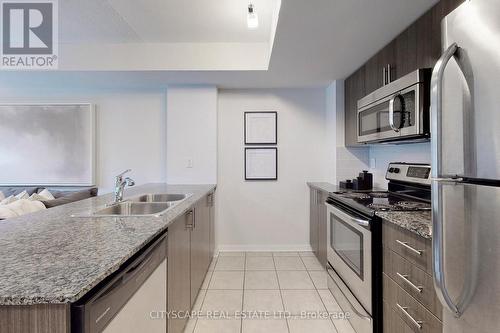
<path fill-rule="evenodd" d="M 389 191 L 332 192 L 330 198 L 370 215 L 375 214 L 377 211 L 431 210 L 430 202 Z"/>

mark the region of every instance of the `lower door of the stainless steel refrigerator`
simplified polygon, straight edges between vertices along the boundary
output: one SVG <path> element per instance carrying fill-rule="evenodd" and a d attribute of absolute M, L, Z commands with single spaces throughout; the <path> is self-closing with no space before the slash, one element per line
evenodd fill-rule
<path fill-rule="evenodd" d="M 433 198 L 433 268 L 443 331 L 498 332 L 500 188 L 434 181 Z"/>

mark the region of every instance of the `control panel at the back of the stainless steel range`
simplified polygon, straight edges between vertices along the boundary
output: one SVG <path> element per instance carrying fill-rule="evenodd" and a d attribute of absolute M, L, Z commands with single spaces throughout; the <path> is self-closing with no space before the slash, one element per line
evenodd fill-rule
<path fill-rule="evenodd" d="M 423 185 L 431 184 L 431 166 L 429 164 L 389 163 L 385 179 Z"/>

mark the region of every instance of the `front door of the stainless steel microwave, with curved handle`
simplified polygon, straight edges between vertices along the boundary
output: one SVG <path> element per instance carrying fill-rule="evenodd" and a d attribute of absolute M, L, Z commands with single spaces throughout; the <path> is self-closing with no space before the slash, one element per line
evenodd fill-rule
<path fill-rule="evenodd" d="M 419 85 L 410 87 L 361 108 L 358 111 L 358 141 L 365 142 L 418 134 L 420 122 L 418 87 Z M 389 112 L 391 103 L 393 105 L 392 117 Z"/>

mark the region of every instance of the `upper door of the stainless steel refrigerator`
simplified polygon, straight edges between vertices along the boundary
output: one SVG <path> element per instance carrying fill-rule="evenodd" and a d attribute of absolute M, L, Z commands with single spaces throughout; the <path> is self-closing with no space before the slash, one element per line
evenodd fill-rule
<path fill-rule="evenodd" d="M 433 80 L 442 84 L 440 101 L 432 86 L 432 112 L 441 117 L 441 128 L 432 128 L 433 140 L 441 138 L 438 177 L 500 179 L 498 13 L 500 1 L 473 0 L 443 20 L 443 51 L 454 43 L 457 48 L 447 63 L 436 65 L 444 68 L 441 82 Z"/>

